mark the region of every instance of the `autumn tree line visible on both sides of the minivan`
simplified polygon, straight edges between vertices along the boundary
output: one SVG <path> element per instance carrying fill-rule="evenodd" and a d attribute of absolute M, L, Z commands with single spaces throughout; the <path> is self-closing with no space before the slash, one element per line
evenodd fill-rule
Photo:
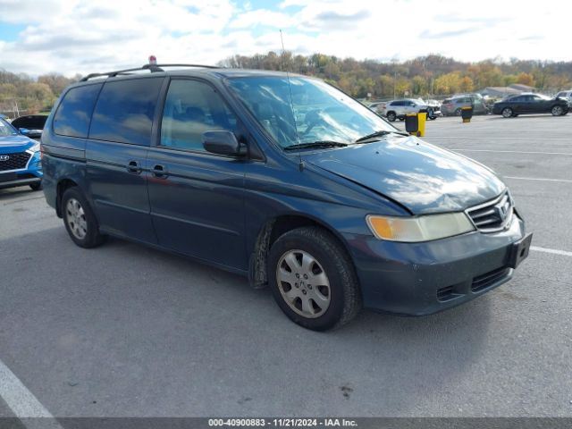
<path fill-rule="evenodd" d="M 540 92 L 554 94 L 572 88 L 572 62 L 489 59 L 464 63 L 442 55 L 419 56 L 412 60 L 382 63 L 357 61 L 334 55 L 277 54 L 233 55 L 218 65 L 232 68 L 291 71 L 316 76 L 357 98 L 443 97 L 485 87 L 521 83 Z M 49 111 L 55 100 L 77 74 L 67 78 L 49 73 L 32 78 L 25 73 L 0 69 L 0 113 Z"/>

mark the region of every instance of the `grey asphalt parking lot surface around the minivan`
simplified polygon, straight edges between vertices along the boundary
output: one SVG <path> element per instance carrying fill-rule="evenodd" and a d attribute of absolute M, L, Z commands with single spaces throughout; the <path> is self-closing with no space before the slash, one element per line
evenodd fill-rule
<path fill-rule="evenodd" d="M 572 416 L 572 114 L 440 118 L 425 139 L 506 181 L 530 257 L 467 305 L 327 333 L 239 276 L 77 248 L 41 192 L 0 190 L 0 416 Z"/>

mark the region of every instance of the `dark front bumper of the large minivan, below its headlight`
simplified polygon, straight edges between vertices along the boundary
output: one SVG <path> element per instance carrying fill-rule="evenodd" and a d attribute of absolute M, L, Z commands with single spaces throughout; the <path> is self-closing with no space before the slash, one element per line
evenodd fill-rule
<path fill-rule="evenodd" d="M 523 238 L 525 224 L 517 214 L 505 231 L 475 231 L 424 243 L 345 236 L 364 307 L 402 315 L 436 313 L 508 282 L 515 243 Z"/>

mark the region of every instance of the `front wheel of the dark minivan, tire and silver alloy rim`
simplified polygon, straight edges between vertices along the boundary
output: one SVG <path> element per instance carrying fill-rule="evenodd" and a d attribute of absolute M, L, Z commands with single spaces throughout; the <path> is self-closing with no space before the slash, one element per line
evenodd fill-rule
<path fill-rule="evenodd" d="M 345 249 L 321 228 L 297 228 L 276 240 L 268 279 L 284 314 L 313 331 L 347 324 L 361 308 L 357 275 Z"/>

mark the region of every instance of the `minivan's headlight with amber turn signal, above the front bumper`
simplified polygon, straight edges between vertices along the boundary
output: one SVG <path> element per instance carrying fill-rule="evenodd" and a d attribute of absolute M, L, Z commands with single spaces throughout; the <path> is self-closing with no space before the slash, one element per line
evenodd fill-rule
<path fill-rule="evenodd" d="M 439 240 L 475 231 L 475 226 L 464 213 L 427 214 L 418 217 L 369 214 L 366 221 L 376 238 L 408 243 Z"/>

